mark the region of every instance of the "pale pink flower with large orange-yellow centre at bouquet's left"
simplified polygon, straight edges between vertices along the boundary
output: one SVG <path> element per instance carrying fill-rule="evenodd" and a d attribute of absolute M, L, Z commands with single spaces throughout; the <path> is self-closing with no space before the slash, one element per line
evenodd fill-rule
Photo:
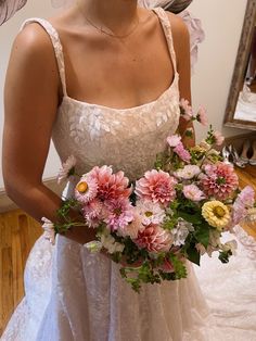
<path fill-rule="evenodd" d="M 75 198 L 82 204 L 93 200 L 98 193 L 98 184 L 90 176 L 81 177 L 75 188 Z"/>

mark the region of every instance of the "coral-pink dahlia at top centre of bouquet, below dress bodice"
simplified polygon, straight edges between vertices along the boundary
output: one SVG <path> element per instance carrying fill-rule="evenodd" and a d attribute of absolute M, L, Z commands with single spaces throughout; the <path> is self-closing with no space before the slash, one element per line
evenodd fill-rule
<path fill-rule="evenodd" d="M 143 200 L 168 205 L 176 198 L 177 180 L 163 171 L 148 171 L 143 178 L 136 181 L 136 194 Z"/>

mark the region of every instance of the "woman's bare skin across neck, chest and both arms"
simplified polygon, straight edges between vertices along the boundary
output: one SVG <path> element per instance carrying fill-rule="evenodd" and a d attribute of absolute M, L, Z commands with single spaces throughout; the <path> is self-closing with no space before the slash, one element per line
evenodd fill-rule
<path fill-rule="evenodd" d="M 172 83 L 174 66 L 157 16 L 137 9 L 136 0 L 84 0 L 49 21 L 57 29 L 65 54 L 67 93 L 77 100 L 123 109 L 157 99 Z M 125 35 L 100 33 L 88 24 Z M 168 13 L 179 72 L 180 98 L 191 100 L 189 33 Z M 89 80 L 88 80 L 89 79 Z M 38 222 L 55 222 L 61 199 L 42 184 L 51 130 L 63 90 L 53 48 L 38 24 L 16 37 L 4 88 L 3 178 L 8 195 Z M 180 132 L 187 123 L 180 121 Z M 72 213 L 76 218 L 76 214 Z M 79 243 L 94 232 L 77 226 L 66 235 Z"/>

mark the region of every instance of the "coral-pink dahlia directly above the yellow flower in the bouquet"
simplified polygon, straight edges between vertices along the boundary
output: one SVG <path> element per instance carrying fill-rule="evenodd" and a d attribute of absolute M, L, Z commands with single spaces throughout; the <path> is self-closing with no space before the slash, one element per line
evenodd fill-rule
<path fill-rule="evenodd" d="M 205 175 L 202 176 L 201 186 L 206 195 L 225 200 L 238 189 L 239 178 L 232 165 L 218 162 L 205 166 Z"/>

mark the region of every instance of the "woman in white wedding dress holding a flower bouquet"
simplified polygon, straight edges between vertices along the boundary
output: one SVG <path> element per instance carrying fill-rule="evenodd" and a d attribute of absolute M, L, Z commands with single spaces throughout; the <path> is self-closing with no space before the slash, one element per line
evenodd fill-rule
<path fill-rule="evenodd" d="M 29 20 L 14 41 L 5 83 L 3 175 L 8 194 L 38 222 L 54 222 L 61 198 L 41 182 L 51 136 L 78 171 L 111 164 L 130 179 L 153 165 L 185 123 L 191 100 L 189 35 L 182 21 L 137 0 L 79 0 L 49 22 Z M 72 184 L 66 189 L 73 194 Z M 75 215 L 75 213 L 74 213 Z M 138 295 L 104 254 L 90 254 L 84 226 L 40 238 L 25 270 L 26 296 L 2 340 L 222 340 L 185 280 Z"/>

